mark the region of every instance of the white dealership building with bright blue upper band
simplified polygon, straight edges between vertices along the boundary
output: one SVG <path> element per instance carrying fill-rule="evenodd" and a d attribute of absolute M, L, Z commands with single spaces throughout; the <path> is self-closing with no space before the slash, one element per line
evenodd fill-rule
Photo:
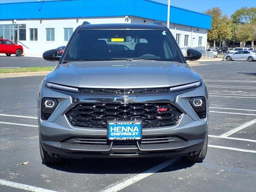
<path fill-rule="evenodd" d="M 23 45 L 24 54 L 42 55 L 64 46 L 77 26 L 146 23 L 166 25 L 167 5 L 152 0 L 54 0 L 0 4 L 0 38 Z M 170 7 L 170 31 L 180 48 L 207 46 L 211 16 Z"/>

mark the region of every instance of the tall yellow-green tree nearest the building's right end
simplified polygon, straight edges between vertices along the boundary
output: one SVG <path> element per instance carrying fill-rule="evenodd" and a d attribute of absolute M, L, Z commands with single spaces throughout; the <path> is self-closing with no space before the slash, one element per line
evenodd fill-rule
<path fill-rule="evenodd" d="M 232 22 L 228 16 L 222 14 L 220 8 L 214 7 L 204 13 L 212 16 L 212 26 L 208 31 L 208 40 L 214 41 L 214 48 L 216 40 L 225 40 L 227 42 L 232 39 Z"/>

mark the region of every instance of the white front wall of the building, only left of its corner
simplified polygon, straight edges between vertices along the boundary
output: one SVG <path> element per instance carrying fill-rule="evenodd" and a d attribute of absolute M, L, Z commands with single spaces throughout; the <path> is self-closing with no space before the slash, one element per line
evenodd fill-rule
<path fill-rule="evenodd" d="M 73 28 L 73 31 L 81 25 L 84 20 L 91 24 L 104 23 L 127 23 L 125 17 L 113 18 L 86 18 L 86 19 L 58 19 L 58 20 L 17 20 L 16 24 L 26 24 L 26 41 L 20 41 L 23 46 L 25 55 L 42 56 L 46 50 L 55 49 L 59 46 L 65 46 L 68 42 L 64 41 L 64 28 Z M 128 21 L 129 22 L 129 21 Z M 12 21 L 1 21 L 0 24 L 12 24 Z M 30 41 L 30 28 L 38 29 L 38 40 Z M 46 41 L 46 28 L 54 28 L 55 40 Z M 20 43 L 18 43 L 20 44 Z"/>

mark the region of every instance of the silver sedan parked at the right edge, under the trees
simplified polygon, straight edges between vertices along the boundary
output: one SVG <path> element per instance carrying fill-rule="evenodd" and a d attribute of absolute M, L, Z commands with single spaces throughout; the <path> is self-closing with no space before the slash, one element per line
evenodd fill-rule
<path fill-rule="evenodd" d="M 256 60 L 256 52 L 253 51 L 237 51 L 235 53 L 228 53 L 223 56 L 224 60 L 248 60 L 255 61 Z"/>

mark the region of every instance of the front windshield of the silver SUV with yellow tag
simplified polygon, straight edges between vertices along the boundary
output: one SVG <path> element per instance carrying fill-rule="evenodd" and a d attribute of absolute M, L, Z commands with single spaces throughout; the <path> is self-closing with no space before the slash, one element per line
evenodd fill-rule
<path fill-rule="evenodd" d="M 162 60 L 183 63 L 165 30 L 78 30 L 62 62 Z"/>

